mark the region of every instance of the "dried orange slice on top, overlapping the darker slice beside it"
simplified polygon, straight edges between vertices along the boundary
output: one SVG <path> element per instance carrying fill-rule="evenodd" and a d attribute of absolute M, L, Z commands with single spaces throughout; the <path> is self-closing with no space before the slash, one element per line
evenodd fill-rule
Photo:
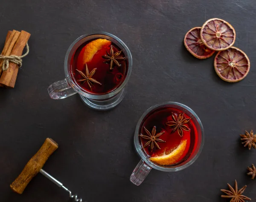
<path fill-rule="evenodd" d="M 225 20 L 212 18 L 202 26 L 200 37 L 208 48 L 214 51 L 224 51 L 235 43 L 236 31 Z"/>

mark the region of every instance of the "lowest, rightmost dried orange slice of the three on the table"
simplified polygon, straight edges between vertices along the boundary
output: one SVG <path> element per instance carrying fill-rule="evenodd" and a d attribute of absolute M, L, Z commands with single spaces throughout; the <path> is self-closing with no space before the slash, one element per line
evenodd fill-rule
<path fill-rule="evenodd" d="M 222 80 L 238 82 L 247 76 L 250 70 L 250 60 L 239 48 L 231 47 L 218 52 L 214 59 L 214 68 Z"/>

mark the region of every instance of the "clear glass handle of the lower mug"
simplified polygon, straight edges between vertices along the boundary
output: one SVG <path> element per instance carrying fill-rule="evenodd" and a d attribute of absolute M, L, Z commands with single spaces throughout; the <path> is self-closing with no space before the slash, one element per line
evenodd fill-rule
<path fill-rule="evenodd" d="M 149 172 L 151 171 L 151 167 L 148 166 L 142 159 L 137 164 L 136 168 L 131 174 L 130 181 L 134 183 L 134 185 L 139 186 L 146 176 L 148 176 Z"/>

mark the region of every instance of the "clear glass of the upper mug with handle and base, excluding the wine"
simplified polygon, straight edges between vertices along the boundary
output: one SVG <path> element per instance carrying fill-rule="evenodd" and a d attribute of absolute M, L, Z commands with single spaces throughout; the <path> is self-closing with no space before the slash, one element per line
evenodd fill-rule
<path fill-rule="evenodd" d="M 122 50 L 125 54 L 127 64 L 127 73 L 124 81 L 118 88 L 114 89 L 113 91 L 107 94 L 91 94 L 77 85 L 72 75 L 70 74 L 70 66 L 71 60 L 73 55 L 75 54 L 76 50 L 87 41 L 102 38 L 110 40 L 114 43 L 118 48 Z M 64 60 L 64 73 L 65 79 L 61 81 L 57 81 L 48 87 L 49 96 L 52 99 L 58 100 L 69 97 L 73 94 L 78 93 L 81 97 L 81 100 L 84 102 L 85 105 L 89 106 L 93 109 L 98 110 L 108 110 L 116 105 L 118 105 L 125 96 L 127 83 L 129 77 L 131 76 L 131 69 L 132 69 L 132 57 L 131 52 L 125 43 L 122 42 L 118 37 L 114 36 L 113 34 L 109 34 L 106 32 L 99 32 L 97 34 L 85 34 L 81 37 L 77 38 L 67 49 L 67 53 Z"/>

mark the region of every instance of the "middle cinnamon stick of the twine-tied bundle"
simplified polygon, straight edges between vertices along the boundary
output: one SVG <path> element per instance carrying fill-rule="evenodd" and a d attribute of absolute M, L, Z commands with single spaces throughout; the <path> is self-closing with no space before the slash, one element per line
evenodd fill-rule
<path fill-rule="evenodd" d="M 9 33 L 9 31 L 8 31 L 8 33 Z M 16 31 L 16 30 L 12 31 L 12 33 L 9 36 L 9 39 L 6 40 L 6 43 L 5 43 L 5 46 L 3 48 L 1 55 L 10 56 L 12 48 L 15 45 L 19 35 L 20 35 L 19 31 Z M 7 36 L 6 36 L 6 38 L 7 38 Z M 3 65 L 3 60 L 0 62 L 0 67 L 2 67 L 2 65 Z M 1 72 L 2 72 L 2 68 L 0 68 L 0 74 L 1 74 Z"/>

